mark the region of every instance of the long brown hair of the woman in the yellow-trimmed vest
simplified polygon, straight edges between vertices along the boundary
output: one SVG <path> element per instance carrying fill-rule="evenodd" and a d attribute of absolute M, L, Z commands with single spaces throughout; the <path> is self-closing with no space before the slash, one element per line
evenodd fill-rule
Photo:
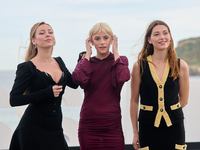
<path fill-rule="evenodd" d="M 142 50 L 138 54 L 138 62 L 140 64 L 144 61 L 147 61 L 147 56 L 153 55 L 153 53 L 154 53 L 154 47 L 152 44 L 149 44 L 148 38 L 150 38 L 153 28 L 157 25 L 164 25 L 168 29 L 169 33 L 171 34 L 170 28 L 165 22 L 163 22 L 161 20 L 155 20 L 155 21 L 151 22 L 146 30 Z M 178 62 L 177 54 L 174 49 L 174 42 L 172 39 L 172 35 L 171 35 L 170 44 L 167 49 L 168 49 L 167 58 L 169 61 L 169 66 L 171 68 L 170 77 L 173 77 L 173 79 L 175 80 L 177 77 L 179 77 L 180 70 L 179 70 L 179 62 Z M 151 63 L 153 63 L 153 62 L 151 62 Z M 144 68 L 143 68 L 143 65 L 141 65 L 141 75 L 142 75 L 143 71 L 144 71 Z"/>

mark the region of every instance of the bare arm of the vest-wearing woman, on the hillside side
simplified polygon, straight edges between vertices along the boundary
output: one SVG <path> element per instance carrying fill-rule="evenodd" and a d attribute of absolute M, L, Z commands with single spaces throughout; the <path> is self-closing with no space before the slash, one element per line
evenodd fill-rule
<path fill-rule="evenodd" d="M 189 70 L 184 60 L 180 60 L 180 78 L 179 78 L 179 102 L 181 107 L 188 103 L 189 96 Z"/>

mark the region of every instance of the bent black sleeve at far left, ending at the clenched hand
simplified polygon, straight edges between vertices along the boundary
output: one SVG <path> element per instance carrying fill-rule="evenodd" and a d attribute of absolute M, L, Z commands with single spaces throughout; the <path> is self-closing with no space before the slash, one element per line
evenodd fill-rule
<path fill-rule="evenodd" d="M 34 93 L 24 95 L 23 93 L 31 85 L 34 77 L 27 63 L 19 64 L 16 71 L 16 78 L 14 81 L 13 88 L 10 92 L 10 105 L 20 106 L 29 103 L 37 103 L 45 99 L 53 99 L 52 86 L 45 89 L 41 89 Z"/>

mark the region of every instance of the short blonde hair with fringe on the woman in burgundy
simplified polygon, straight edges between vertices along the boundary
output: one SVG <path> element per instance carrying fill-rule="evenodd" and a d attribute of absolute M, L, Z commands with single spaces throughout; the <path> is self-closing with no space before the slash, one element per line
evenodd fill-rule
<path fill-rule="evenodd" d="M 92 29 L 89 32 L 89 37 L 92 37 L 93 35 L 95 35 L 96 33 L 100 33 L 100 32 L 104 32 L 109 34 L 110 36 L 113 36 L 113 32 L 112 29 L 110 28 L 110 26 L 105 23 L 105 22 L 99 22 L 97 24 L 95 24 Z"/>

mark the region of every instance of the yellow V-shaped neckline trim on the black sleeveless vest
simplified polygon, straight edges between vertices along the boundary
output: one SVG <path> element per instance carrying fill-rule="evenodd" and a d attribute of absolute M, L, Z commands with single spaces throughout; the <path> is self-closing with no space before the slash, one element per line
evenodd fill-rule
<path fill-rule="evenodd" d="M 149 55 L 147 57 L 147 60 L 148 60 L 148 64 L 149 64 L 149 68 L 150 68 L 150 72 L 151 72 L 151 75 L 154 79 L 154 81 L 156 83 L 162 83 L 164 84 L 167 80 L 167 77 L 168 77 L 168 74 L 169 74 L 169 63 L 168 63 L 168 59 L 166 61 L 166 64 L 165 64 L 165 69 L 164 69 L 164 72 L 163 72 L 163 75 L 162 75 L 162 79 L 160 80 L 160 78 L 158 77 L 157 73 L 156 73 L 156 69 L 155 69 L 155 66 L 152 64 L 153 61 L 152 61 L 152 57 L 151 55 Z"/>

